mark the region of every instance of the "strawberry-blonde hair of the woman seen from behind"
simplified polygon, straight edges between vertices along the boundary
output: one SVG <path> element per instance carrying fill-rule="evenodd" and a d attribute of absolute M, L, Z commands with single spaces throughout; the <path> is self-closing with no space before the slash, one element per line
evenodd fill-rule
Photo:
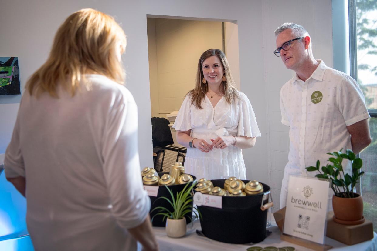
<path fill-rule="evenodd" d="M 71 14 L 59 27 L 47 61 L 30 77 L 26 88 L 38 97 L 48 92 L 58 97 L 57 87 L 72 96 L 86 73 L 107 76 L 123 84 L 125 73 L 116 46 L 126 49 L 126 35 L 113 17 L 94 9 Z"/>

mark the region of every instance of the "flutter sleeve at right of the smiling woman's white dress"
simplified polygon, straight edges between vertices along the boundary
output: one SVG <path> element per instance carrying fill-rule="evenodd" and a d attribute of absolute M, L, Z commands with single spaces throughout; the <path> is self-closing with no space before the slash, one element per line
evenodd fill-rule
<path fill-rule="evenodd" d="M 239 93 L 239 117 L 237 136 L 260 137 L 257 120 L 250 100 L 244 93 Z"/>

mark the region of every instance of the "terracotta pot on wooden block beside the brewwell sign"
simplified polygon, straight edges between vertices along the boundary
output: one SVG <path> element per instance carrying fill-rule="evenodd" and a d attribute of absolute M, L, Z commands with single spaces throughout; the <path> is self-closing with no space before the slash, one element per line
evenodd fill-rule
<path fill-rule="evenodd" d="M 363 198 L 354 193 L 354 198 L 341 198 L 333 195 L 334 221 L 340 224 L 356 225 L 365 221 Z"/>

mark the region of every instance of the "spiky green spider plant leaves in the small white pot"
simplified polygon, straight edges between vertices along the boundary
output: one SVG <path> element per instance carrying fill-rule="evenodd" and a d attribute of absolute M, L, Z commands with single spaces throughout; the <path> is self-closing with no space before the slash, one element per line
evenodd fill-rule
<path fill-rule="evenodd" d="M 155 218 L 156 215 L 163 215 L 164 218 L 162 219 L 162 221 L 164 221 L 165 218 L 178 220 L 178 219 L 183 219 L 184 216 L 190 212 L 193 212 L 196 215 L 196 217 L 198 217 L 198 213 L 201 216 L 198 208 L 193 207 L 193 205 L 191 204 L 191 202 L 193 201 L 192 189 L 196 185 L 196 183 L 193 182 L 191 186 L 189 186 L 189 184 L 190 183 L 187 183 L 182 191 L 177 192 L 176 197 L 173 196 L 172 190 L 170 190 L 169 187 L 165 185 L 166 189 L 169 191 L 170 196 L 172 196 L 172 198 L 170 199 L 165 196 L 161 196 L 158 199 L 165 199 L 167 202 L 169 202 L 170 205 L 172 205 L 173 210 L 170 211 L 166 207 L 161 207 L 161 206 L 155 207 L 153 208 L 151 213 L 157 209 L 159 209 L 159 212 L 156 213 L 153 216 L 153 218 Z M 156 199 L 156 201 L 158 199 Z M 195 208 L 198 211 L 198 213 L 196 213 L 196 211 L 193 211 L 193 208 Z M 191 219 L 190 216 L 187 216 L 187 217 Z M 153 221 L 153 218 L 152 218 L 152 221 Z"/>

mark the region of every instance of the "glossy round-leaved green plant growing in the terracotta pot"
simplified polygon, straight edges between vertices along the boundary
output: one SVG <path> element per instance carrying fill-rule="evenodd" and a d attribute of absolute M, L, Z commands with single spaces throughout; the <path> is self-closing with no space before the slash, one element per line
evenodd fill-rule
<path fill-rule="evenodd" d="M 340 149 L 339 152 L 329 152 L 327 154 L 334 156 L 328 159 L 331 164 L 322 166 L 322 168 L 319 169 L 320 163 L 319 160 L 317 160 L 316 166 L 305 167 L 305 169 L 307 169 L 308 172 L 318 171 L 319 174 L 316 175 L 317 178 L 331 180 L 331 189 L 333 189 L 335 196 L 343 198 L 356 197 L 353 190 L 359 182 L 360 177 L 364 174 L 364 172 L 359 172 L 360 168 L 363 166 L 363 161 L 360 158 L 356 158 L 356 155 L 349 149 L 347 149 L 345 153 L 342 153 L 342 149 Z M 351 174 L 345 173 L 343 170 L 343 159 L 351 161 Z"/>

